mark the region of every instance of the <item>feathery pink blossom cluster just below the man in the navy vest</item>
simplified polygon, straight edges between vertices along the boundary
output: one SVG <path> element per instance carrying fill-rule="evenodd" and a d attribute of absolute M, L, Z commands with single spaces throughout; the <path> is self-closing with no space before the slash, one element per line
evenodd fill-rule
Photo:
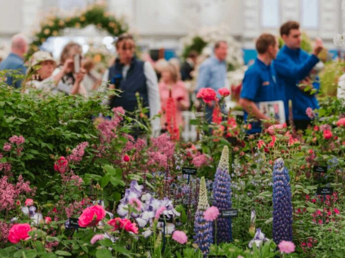
<path fill-rule="evenodd" d="M 113 139 L 116 138 L 116 128 L 119 123 L 123 120 L 124 109 L 119 107 L 113 108 L 114 117 L 111 120 L 104 120 L 101 122 L 97 129 L 101 132 L 101 143 L 110 143 Z"/>

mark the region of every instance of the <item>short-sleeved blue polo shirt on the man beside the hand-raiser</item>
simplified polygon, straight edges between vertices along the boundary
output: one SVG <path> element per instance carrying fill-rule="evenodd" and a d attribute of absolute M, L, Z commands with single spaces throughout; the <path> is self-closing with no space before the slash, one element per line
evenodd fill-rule
<path fill-rule="evenodd" d="M 279 85 L 274 65 L 266 65 L 264 62 L 255 59 L 255 62 L 248 68 L 242 81 L 240 97 L 258 103 L 263 101 L 284 101 L 284 85 Z M 244 111 L 246 121 L 248 113 Z M 261 122 L 252 122 L 252 129 L 249 134 L 261 132 Z"/>

